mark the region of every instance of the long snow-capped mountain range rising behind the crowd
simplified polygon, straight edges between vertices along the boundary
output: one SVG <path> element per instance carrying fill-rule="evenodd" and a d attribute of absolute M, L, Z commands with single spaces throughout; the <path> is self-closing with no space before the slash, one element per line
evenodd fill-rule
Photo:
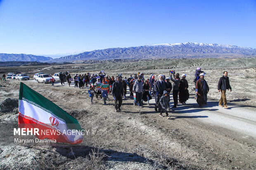
<path fill-rule="evenodd" d="M 155 44 L 152 46 L 110 48 L 87 51 L 76 55 L 55 58 L 50 62 L 78 60 L 113 59 L 154 59 L 154 58 L 241 58 L 256 57 L 256 49 L 233 45 L 176 43 Z"/>

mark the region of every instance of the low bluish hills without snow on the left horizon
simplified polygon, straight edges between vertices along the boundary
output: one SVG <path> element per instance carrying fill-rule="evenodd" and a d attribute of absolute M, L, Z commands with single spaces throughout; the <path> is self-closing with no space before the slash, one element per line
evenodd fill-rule
<path fill-rule="evenodd" d="M 34 56 L 32 54 L 5 54 L 0 53 L 0 61 L 39 61 L 45 62 L 52 60 L 51 57 Z"/>

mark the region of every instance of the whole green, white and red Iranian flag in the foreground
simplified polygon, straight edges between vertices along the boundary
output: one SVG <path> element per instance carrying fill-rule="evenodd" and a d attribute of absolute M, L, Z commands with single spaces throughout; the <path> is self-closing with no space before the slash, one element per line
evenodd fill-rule
<path fill-rule="evenodd" d="M 38 139 L 79 144 L 83 129 L 78 121 L 23 83 L 19 88 L 19 128 L 38 128 Z"/>

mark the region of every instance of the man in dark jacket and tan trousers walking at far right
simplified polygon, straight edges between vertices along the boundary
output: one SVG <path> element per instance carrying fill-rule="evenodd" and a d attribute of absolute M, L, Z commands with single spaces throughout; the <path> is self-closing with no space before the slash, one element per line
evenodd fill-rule
<path fill-rule="evenodd" d="M 228 109 L 227 106 L 227 98 L 226 98 L 226 90 L 232 91 L 231 86 L 229 84 L 229 77 L 228 77 L 228 72 L 225 71 L 223 72 L 223 76 L 220 77 L 219 83 L 218 83 L 218 92 L 221 91 L 221 97 L 219 101 L 219 106 L 224 107 L 225 109 Z M 221 105 L 223 103 L 223 105 Z"/>

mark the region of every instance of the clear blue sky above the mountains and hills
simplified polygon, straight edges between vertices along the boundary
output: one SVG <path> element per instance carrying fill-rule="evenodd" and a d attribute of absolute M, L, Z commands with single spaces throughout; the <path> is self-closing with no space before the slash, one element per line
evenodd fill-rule
<path fill-rule="evenodd" d="M 256 48 L 256 0 L 0 0 L 0 53 L 179 42 Z"/>

